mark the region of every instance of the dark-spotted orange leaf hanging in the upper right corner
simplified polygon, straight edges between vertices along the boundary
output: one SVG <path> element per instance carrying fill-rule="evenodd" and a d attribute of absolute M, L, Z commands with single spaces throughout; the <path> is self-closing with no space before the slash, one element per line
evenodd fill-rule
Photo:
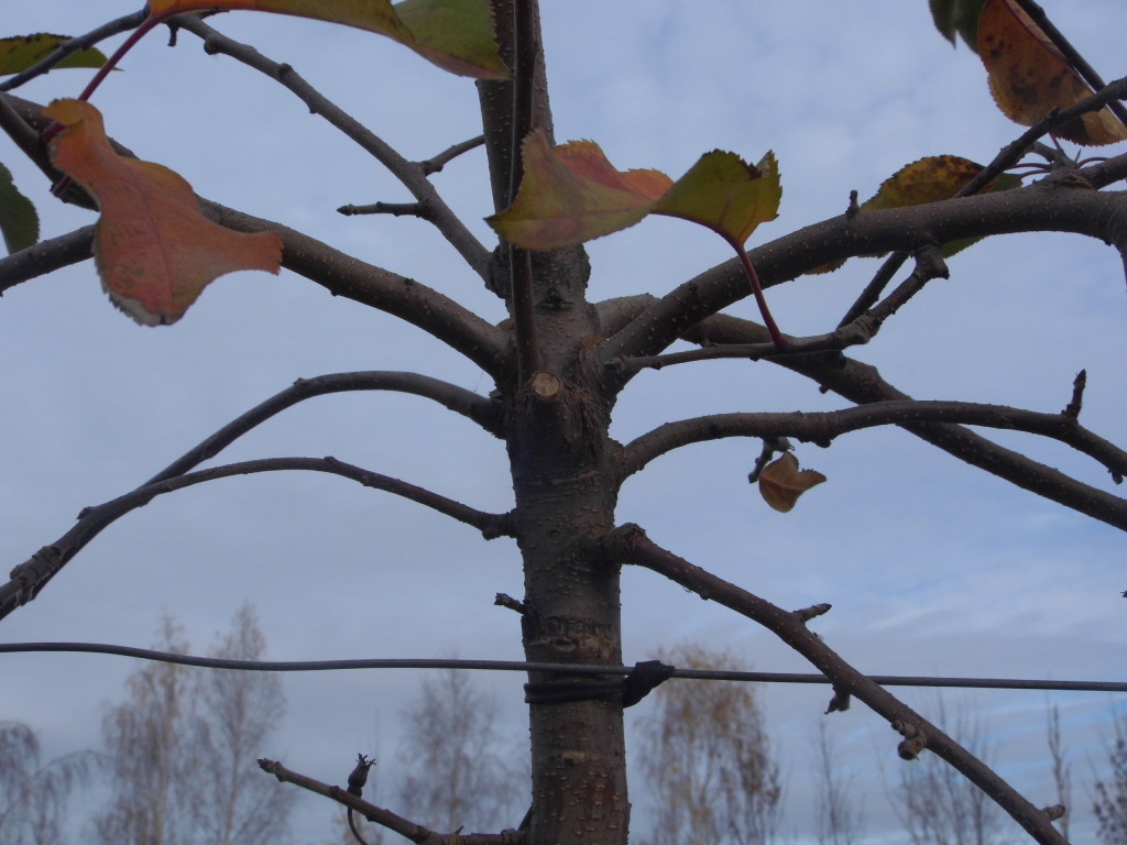
<path fill-rule="evenodd" d="M 978 55 L 990 74 L 990 90 L 1002 113 L 1032 126 L 1054 108 L 1090 97 L 1092 89 L 1013 0 L 986 0 L 978 19 Z M 1127 139 L 1127 126 L 1107 108 L 1057 127 L 1059 137 L 1085 146 Z"/>

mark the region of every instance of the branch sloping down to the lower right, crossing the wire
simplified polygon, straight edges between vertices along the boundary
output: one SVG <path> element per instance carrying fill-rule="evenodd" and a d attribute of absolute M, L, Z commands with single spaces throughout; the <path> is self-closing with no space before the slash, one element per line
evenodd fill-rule
<path fill-rule="evenodd" d="M 718 602 L 772 631 L 833 683 L 836 701 L 854 696 L 887 719 L 905 738 L 898 749 L 902 757 L 911 759 L 924 748 L 931 750 L 990 795 L 1037 842 L 1066 845 L 1042 810 L 1022 798 L 990 766 L 939 728 L 845 662 L 806 626 L 801 613 L 784 611 L 693 566 L 650 541 L 637 525 L 623 525 L 606 534 L 603 549 L 611 561 L 645 567 L 701 598 Z"/>

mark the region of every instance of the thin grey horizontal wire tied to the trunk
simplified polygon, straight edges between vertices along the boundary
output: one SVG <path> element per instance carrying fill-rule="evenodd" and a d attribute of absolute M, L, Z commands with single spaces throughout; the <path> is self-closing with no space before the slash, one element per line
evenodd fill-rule
<path fill-rule="evenodd" d="M 0 653 L 28 651 L 89 652 L 135 657 L 184 666 L 241 671 L 337 671 L 344 669 L 483 669 L 494 671 L 553 671 L 561 675 L 629 675 L 632 666 L 524 662 L 521 660 L 460 660 L 454 658 L 363 658 L 358 660 L 232 660 L 196 657 L 170 651 L 112 646 L 100 642 L 6 642 Z M 674 669 L 673 677 L 696 681 L 751 681 L 762 684 L 829 684 L 825 675 L 787 671 L 728 671 L 722 669 Z M 903 675 L 869 675 L 881 686 L 961 687 L 967 690 L 1063 690 L 1073 692 L 1127 692 L 1127 683 L 1115 681 L 1040 681 L 1021 678 L 950 678 Z"/>

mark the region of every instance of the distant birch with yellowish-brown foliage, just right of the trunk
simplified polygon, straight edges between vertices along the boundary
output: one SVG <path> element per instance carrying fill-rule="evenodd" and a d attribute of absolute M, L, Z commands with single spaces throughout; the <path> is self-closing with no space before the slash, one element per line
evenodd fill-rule
<path fill-rule="evenodd" d="M 739 669 L 700 646 L 662 653 L 694 669 Z M 760 845 L 778 828 L 782 788 L 763 712 L 746 683 L 669 682 L 651 696 L 637 756 L 656 811 L 646 845 Z M 647 701 L 648 703 L 648 701 Z"/>

